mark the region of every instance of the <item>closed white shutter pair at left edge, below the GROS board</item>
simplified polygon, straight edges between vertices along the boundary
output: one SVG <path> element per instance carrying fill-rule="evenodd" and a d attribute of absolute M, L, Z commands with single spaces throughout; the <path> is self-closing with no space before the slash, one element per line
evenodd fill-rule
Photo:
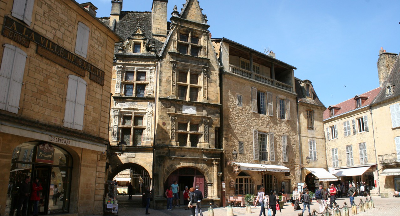
<path fill-rule="evenodd" d="M 0 109 L 18 113 L 26 53 L 16 46 L 4 44 L 0 68 Z"/>

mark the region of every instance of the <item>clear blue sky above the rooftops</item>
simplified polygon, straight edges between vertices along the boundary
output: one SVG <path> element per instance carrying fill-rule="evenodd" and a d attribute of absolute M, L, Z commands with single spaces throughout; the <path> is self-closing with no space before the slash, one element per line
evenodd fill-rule
<path fill-rule="evenodd" d="M 88 0 L 77 0 L 79 3 Z M 168 15 L 186 0 L 169 0 Z M 213 38 L 228 38 L 298 68 L 326 107 L 379 87 L 383 47 L 400 52 L 399 0 L 199 0 Z M 92 0 L 110 16 L 111 0 Z M 152 0 L 124 0 L 122 10 L 151 11 Z M 180 10 L 179 10 L 180 11 Z M 345 87 L 346 86 L 346 87 Z"/>

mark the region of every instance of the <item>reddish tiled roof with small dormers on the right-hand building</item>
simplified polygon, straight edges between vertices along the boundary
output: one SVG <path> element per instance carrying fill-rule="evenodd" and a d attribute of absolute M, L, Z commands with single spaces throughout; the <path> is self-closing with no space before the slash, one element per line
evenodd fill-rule
<path fill-rule="evenodd" d="M 372 101 L 374 101 L 374 99 L 376 98 L 376 96 L 378 95 L 378 93 L 380 92 L 381 89 L 382 88 L 379 87 L 379 88 L 375 88 L 374 90 L 370 90 L 369 92 L 366 92 L 364 94 L 361 94 L 361 96 L 368 97 L 368 99 L 362 104 L 361 107 L 370 105 L 372 103 Z M 339 114 L 349 112 L 351 110 L 355 110 L 356 109 L 356 101 L 354 100 L 354 97 L 352 97 L 352 98 L 350 98 L 344 102 L 341 102 L 339 104 L 336 104 L 332 107 L 341 107 L 339 110 L 335 110 L 334 116 L 337 116 Z M 329 110 L 328 109 L 325 110 L 324 111 L 324 120 L 327 118 L 330 118 L 330 117 L 332 117 L 332 116 L 330 116 Z"/>

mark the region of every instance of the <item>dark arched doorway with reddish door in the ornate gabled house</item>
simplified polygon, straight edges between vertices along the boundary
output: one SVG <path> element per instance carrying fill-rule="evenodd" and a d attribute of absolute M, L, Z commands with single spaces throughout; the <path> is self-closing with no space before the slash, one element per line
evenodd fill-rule
<path fill-rule="evenodd" d="M 199 186 L 199 190 L 203 193 L 203 197 L 208 196 L 207 182 L 200 170 L 190 167 L 184 167 L 175 170 L 170 174 L 170 176 L 168 176 L 167 180 L 164 182 L 163 191 L 165 192 L 169 188 L 169 186 L 174 184 L 174 181 L 178 181 L 179 199 L 181 203 L 183 203 L 183 191 L 185 189 L 185 186 L 188 186 L 188 189 Z"/>

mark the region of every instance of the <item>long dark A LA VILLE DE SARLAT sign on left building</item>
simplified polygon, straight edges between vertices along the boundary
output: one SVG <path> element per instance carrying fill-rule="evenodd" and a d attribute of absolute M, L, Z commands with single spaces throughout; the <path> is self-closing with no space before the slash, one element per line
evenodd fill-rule
<path fill-rule="evenodd" d="M 28 48 L 30 41 L 33 41 L 38 44 L 36 52 L 39 55 L 44 56 L 83 77 L 85 76 L 85 71 L 88 71 L 90 74 L 90 80 L 93 80 L 100 85 L 104 85 L 104 71 L 86 62 L 72 52 L 62 48 L 58 44 L 53 43 L 37 32 L 34 32 L 30 28 L 26 28 L 24 24 L 21 24 L 8 16 L 4 19 L 2 35 Z"/>

